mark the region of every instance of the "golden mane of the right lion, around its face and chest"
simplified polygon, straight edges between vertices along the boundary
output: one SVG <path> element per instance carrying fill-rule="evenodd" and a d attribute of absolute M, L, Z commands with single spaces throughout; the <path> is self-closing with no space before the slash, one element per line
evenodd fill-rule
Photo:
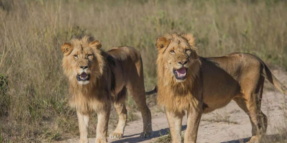
<path fill-rule="evenodd" d="M 160 40 L 160 38 L 163 39 Z M 188 41 L 189 45 L 193 48 L 193 50 L 197 55 L 196 48 L 194 47 L 194 38 L 191 34 L 178 34 L 178 33 L 165 34 L 164 36 L 158 38 L 156 45 L 166 47 L 170 43 L 170 41 L 181 38 L 184 38 L 186 41 Z M 191 64 L 192 68 L 189 68 L 187 71 L 186 81 L 177 82 L 174 76 L 170 74 L 170 71 L 166 69 L 168 65 L 166 65 L 166 61 L 164 61 L 163 58 L 164 51 L 165 48 L 159 49 L 158 58 L 156 60 L 157 74 L 158 74 L 157 103 L 158 105 L 164 106 L 165 108 L 173 110 L 174 112 L 180 112 L 188 109 L 189 103 L 192 103 L 191 97 L 193 96 L 191 96 L 192 95 L 191 91 L 195 91 L 196 89 L 194 88 L 197 88 L 197 86 L 193 85 L 196 84 L 197 82 L 201 62 L 199 60 L 195 60 Z"/>

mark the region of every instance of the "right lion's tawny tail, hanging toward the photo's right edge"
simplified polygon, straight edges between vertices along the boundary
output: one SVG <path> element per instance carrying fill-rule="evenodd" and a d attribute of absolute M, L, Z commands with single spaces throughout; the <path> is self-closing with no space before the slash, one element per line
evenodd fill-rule
<path fill-rule="evenodd" d="M 280 92 L 287 95 L 287 88 L 284 86 L 268 69 L 268 67 L 261 61 L 263 64 L 263 74 L 262 76 L 271 82 Z"/>

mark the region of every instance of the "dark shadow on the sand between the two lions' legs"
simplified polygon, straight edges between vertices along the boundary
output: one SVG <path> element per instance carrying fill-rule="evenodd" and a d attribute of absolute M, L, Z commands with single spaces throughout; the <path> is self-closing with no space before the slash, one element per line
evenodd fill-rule
<path fill-rule="evenodd" d="M 185 129 L 186 129 L 186 126 L 187 126 L 187 125 L 183 125 L 183 126 L 182 126 L 182 130 L 185 130 Z M 154 131 L 152 138 L 140 138 L 140 137 L 139 137 L 140 134 L 133 134 L 133 135 L 129 135 L 129 136 L 123 136 L 125 139 L 115 140 L 115 141 L 113 141 L 112 143 L 125 143 L 125 142 L 135 143 L 135 142 L 142 142 L 142 141 L 145 141 L 145 140 L 152 140 L 153 138 L 157 138 L 157 137 L 160 137 L 161 135 L 166 135 L 166 134 L 168 134 L 168 128 Z M 135 137 L 133 137 L 133 138 L 126 138 L 126 137 L 132 137 L 132 136 L 135 136 Z"/>

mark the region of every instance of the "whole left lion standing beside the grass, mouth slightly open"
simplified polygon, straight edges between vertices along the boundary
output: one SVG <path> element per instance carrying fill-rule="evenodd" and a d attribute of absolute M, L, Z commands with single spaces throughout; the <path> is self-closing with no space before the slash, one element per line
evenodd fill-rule
<path fill-rule="evenodd" d="M 123 137 L 127 122 L 125 95 L 132 95 L 143 118 L 142 138 L 152 136 L 151 113 L 146 105 L 141 55 L 132 47 L 113 47 L 105 52 L 92 37 L 71 39 L 61 46 L 63 70 L 69 82 L 69 104 L 77 111 L 80 138 L 88 142 L 90 114 L 98 117 L 96 143 L 107 142 L 111 102 L 119 114 L 116 129 L 110 138 Z"/>

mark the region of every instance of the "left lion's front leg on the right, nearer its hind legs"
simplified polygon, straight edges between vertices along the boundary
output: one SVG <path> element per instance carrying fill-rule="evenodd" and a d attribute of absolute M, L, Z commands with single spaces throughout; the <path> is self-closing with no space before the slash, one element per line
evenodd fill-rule
<path fill-rule="evenodd" d="M 98 124 L 96 130 L 96 143 L 107 143 L 108 120 L 110 117 L 110 107 L 106 111 L 98 113 Z"/>

